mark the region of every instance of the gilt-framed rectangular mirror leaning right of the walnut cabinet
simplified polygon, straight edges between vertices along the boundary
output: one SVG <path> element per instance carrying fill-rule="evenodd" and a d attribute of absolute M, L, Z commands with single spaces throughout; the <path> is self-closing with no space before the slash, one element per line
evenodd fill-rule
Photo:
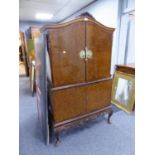
<path fill-rule="evenodd" d="M 114 105 L 130 114 L 135 103 L 135 76 L 116 71 L 112 86 Z"/>

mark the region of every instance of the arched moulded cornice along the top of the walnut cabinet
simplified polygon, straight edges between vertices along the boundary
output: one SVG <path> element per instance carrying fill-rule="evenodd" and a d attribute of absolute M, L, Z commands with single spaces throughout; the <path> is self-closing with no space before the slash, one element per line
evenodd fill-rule
<path fill-rule="evenodd" d="M 61 23 L 61 24 L 48 24 L 48 25 L 45 25 L 40 29 L 40 31 L 44 32 L 47 29 L 63 28 L 63 27 L 69 26 L 71 24 L 76 24 L 78 22 L 92 22 L 92 23 L 102 27 L 104 30 L 109 31 L 109 32 L 113 32 L 115 30 L 115 28 L 107 27 L 107 26 L 101 24 L 100 22 L 96 21 L 95 19 L 93 19 L 91 17 L 83 16 L 83 17 L 71 20 L 69 22 Z"/>

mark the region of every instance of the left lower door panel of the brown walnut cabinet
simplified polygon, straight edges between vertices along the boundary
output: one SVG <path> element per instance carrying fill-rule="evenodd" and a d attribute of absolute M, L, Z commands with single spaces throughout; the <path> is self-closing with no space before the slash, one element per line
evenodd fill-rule
<path fill-rule="evenodd" d="M 53 112 L 55 122 L 61 122 L 86 111 L 85 87 L 69 88 L 53 92 Z"/>

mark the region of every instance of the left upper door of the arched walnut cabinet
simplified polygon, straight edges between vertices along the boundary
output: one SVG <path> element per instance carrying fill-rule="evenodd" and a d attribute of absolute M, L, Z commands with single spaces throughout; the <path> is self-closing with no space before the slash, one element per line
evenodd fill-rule
<path fill-rule="evenodd" d="M 78 22 L 49 30 L 49 55 L 54 86 L 85 81 L 85 23 Z"/>

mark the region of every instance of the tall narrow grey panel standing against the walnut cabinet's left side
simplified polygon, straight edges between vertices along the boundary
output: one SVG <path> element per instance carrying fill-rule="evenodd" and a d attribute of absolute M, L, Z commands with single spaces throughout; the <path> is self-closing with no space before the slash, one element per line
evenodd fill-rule
<path fill-rule="evenodd" d="M 45 34 L 35 39 L 36 50 L 36 96 L 39 121 L 44 140 L 49 143 L 48 104 L 46 84 L 46 37 Z"/>

